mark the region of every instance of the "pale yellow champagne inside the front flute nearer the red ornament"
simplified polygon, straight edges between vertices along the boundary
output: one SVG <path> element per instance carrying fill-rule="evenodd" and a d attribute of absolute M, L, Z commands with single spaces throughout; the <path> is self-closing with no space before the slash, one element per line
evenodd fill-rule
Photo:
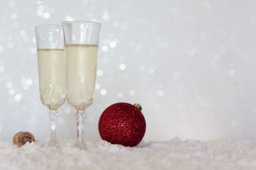
<path fill-rule="evenodd" d="M 67 59 L 67 101 L 84 110 L 93 101 L 95 89 L 98 46 L 66 45 Z"/>

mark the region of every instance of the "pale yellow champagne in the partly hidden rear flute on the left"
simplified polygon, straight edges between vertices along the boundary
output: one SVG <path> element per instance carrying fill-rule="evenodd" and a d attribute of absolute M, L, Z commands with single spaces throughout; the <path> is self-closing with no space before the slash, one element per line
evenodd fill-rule
<path fill-rule="evenodd" d="M 61 49 L 38 49 L 40 99 L 57 110 L 66 99 L 65 55 Z"/>

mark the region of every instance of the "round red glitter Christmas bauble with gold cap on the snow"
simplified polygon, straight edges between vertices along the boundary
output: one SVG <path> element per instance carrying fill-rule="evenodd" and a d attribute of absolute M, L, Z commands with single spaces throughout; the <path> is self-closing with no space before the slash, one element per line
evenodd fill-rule
<path fill-rule="evenodd" d="M 112 144 L 136 146 L 146 131 L 140 104 L 115 103 L 100 116 L 100 137 Z"/>

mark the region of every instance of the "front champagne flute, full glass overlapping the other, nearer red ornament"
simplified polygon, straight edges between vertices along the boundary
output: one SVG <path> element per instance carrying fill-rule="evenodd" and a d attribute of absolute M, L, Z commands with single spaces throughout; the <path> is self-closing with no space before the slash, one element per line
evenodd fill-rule
<path fill-rule="evenodd" d="M 93 103 L 101 24 L 70 21 L 62 22 L 62 25 L 67 60 L 67 101 L 77 110 L 75 147 L 84 149 L 84 110 Z"/>

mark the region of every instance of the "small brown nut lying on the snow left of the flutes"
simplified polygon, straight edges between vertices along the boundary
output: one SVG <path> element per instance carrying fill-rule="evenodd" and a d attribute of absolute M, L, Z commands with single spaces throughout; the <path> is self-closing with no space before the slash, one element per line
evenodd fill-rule
<path fill-rule="evenodd" d="M 30 132 L 18 132 L 12 138 L 13 144 L 17 146 L 25 145 L 28 141 L 29 143 L 35 142 L 35 137 Z"/>

